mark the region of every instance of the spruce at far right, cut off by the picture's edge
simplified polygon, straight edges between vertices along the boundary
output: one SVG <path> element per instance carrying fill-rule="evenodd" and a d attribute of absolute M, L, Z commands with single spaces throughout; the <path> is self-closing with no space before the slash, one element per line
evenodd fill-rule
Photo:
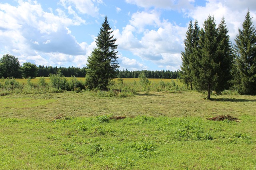
<path fill-rule="evenodd" d="M 250 11 L 246 13 L 236 35 L 236 66 L 239 78 L 236 79 L 241 94 L 256 94 L 256 29 L 252 25 Z"/>

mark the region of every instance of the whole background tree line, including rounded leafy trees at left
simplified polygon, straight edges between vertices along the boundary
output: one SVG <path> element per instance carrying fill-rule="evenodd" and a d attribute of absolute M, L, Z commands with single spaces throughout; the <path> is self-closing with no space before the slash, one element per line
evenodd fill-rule
<path fill-rule="evenodd" d="M 8 71 L 6 71 L 8 70 Z M 0 59 L 0 77 L 4 78 L 35 78 L 35 77 L 49 77 L 50 74 L 57 74 L 58 70 L 65 77 L 85 77 L 86 67 L 57 67 L 57 66 L 36 66 L 32 63 L 24 63 L 20 66 L 18 58 L 13 55 L 6 54 Z M 116 69 L 115 78 L 138 78 L 140 73 L 144 72 L 147 78 L 179 78 L 179 71 L 170 70 L 142 70 L 142 71 L 120 71 Z"/>

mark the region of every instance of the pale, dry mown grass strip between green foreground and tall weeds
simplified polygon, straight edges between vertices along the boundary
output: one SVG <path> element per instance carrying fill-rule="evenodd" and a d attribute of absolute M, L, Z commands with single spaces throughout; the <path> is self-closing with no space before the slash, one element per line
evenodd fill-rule
<path fill-rule="evenodd" d="M 91 92 L 59 94 L 12 94 L 0 98 L 0 117 L 51 119 L 63 114 L 71 117 L 98 115 L 135 117 L 214 117 L 216 115 L 256 115 L 256 96 L 212 96 L 205 100 L 197 92 L 139 93 L 128 98 L 99 97 Z"/>

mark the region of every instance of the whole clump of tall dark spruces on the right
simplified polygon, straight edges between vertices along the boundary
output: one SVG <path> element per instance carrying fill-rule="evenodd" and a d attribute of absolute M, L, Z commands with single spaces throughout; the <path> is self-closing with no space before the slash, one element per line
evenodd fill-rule
<path fill-rule="evenodd" d="M 184 40 L 181 78 L 183 82 L 200 92 L 237 87 L 241 94 L 256 93 L 256 31 L 250 12 L 246 14 L 243 29 L 239 29 L 233 47 L 224 18 L 216 25 L 209 16 L 199 28 L 197 21 L 190 21 Z"/>

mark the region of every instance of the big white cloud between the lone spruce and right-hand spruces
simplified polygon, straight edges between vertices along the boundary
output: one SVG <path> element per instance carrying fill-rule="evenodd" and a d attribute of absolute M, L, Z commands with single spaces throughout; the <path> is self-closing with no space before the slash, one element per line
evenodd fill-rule
<path fill-rule="evenodd" d="M 160 14 L 155 11 L 136 12 L 132 14 L 129 23 L 122 31 L 116 29 L 113 32 L 118 48 L 131 51 L 140 59 L 151 61 L 164 69 L 180 68 L 180 52 L 184 49 L 183 40 L 187 28 L 160 20 Z M 148 29 L 152 25 L 154 29 Z M 140 39 L 137 33 L 141 34 Z"/>

